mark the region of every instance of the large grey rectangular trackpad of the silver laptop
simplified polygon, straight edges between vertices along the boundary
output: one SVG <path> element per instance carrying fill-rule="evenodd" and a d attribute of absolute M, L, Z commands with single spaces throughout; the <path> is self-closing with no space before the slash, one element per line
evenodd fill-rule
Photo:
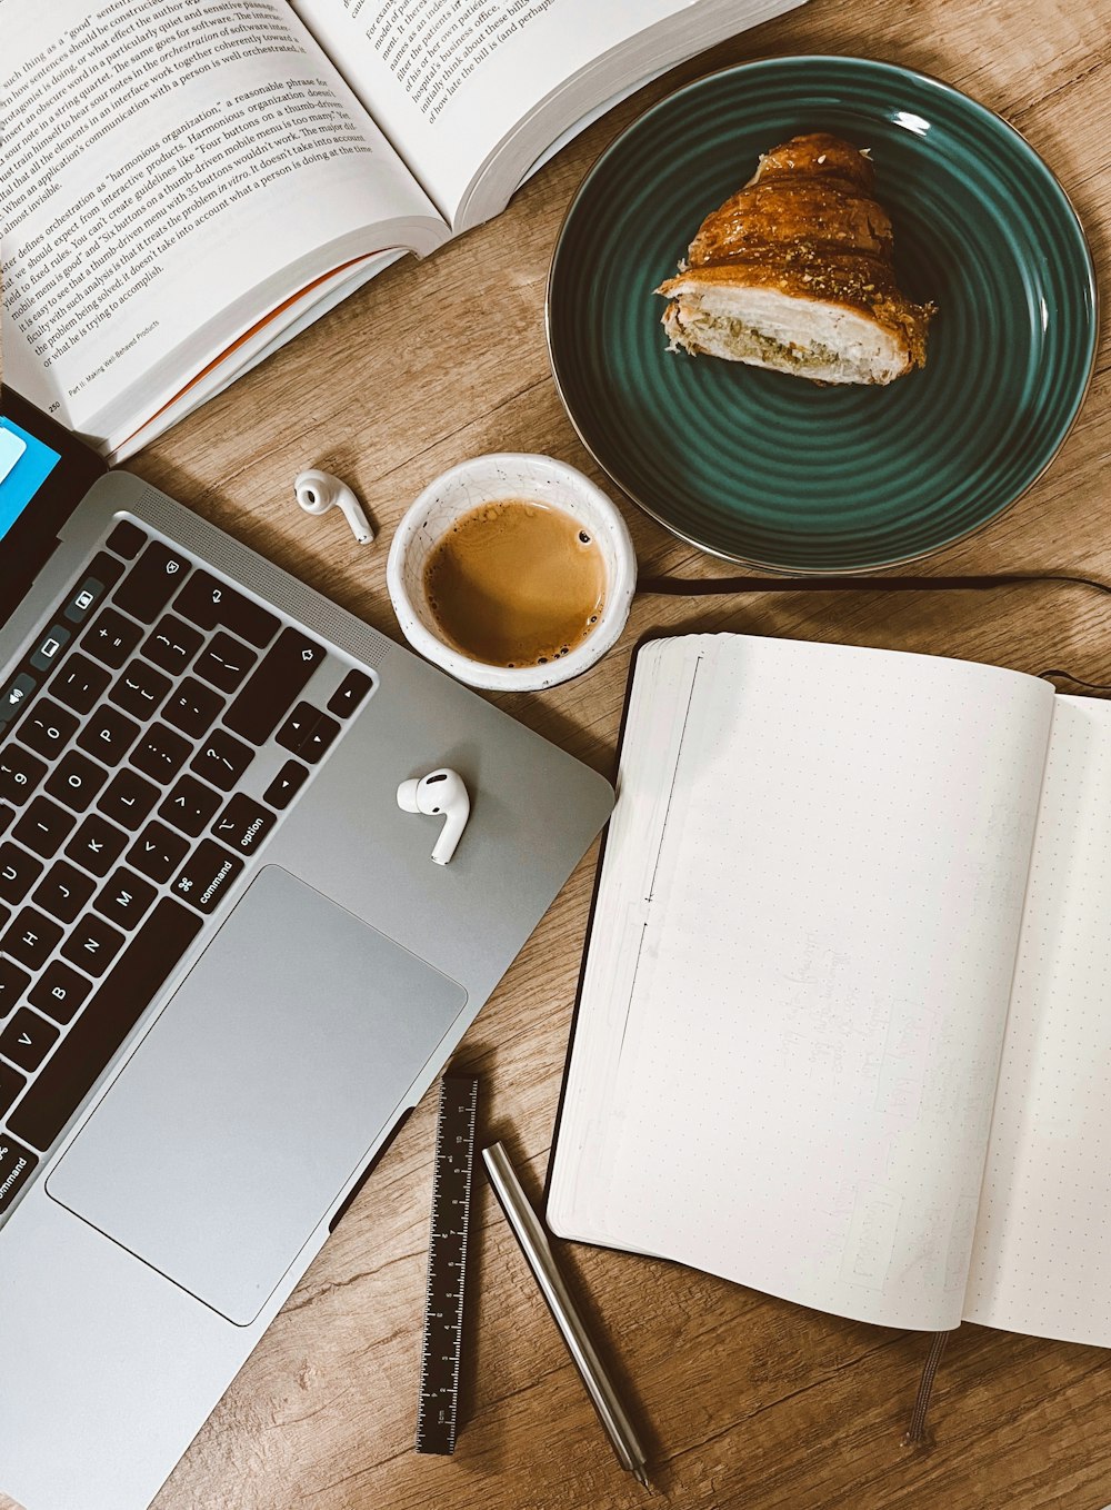
<path fill-rule="evenodd" d="M 47 1190 L 246 1326 L 465 1001 L 456 982 L 269 865 Z"/>

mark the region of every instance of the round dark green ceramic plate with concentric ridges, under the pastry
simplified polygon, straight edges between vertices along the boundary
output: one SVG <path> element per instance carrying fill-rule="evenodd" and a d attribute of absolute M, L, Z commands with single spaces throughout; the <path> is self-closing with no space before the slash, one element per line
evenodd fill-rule
<path fill-rule="evenodd" d="M 886 388 L 667 350 L 652 290 L 800 131 L 871 148 L 900 287 L 939 307 L 925 368 Z M 1096 325 L 1084 231 L 1033 148 L 857 57 L 746 63 L 655 106 L 583 183 L 548 279 L 552 371 L 596 461 L 684 539 L 782 571 L 891 566 L 995 519 L 1069 433 Z"/>

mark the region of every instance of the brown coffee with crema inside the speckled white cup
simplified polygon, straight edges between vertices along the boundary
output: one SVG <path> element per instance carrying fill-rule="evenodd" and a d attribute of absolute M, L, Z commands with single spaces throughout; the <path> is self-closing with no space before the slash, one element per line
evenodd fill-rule
<path fill-rule="evenodd" d="M 424 595 L 444 639 L 488 666 L 569 655 L 605 602 L 605 560 L 590 530 L 534 498 L 497 498 L 460 515 L 433 545 Z"/>

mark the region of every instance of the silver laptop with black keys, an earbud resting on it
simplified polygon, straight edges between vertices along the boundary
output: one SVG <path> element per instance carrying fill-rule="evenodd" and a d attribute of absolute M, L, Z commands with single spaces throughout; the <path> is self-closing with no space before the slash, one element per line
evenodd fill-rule
<path fill-rule="evenodd" d="M 0 1490 L 140 1510 L 613 791 L 0 409 Z"/>

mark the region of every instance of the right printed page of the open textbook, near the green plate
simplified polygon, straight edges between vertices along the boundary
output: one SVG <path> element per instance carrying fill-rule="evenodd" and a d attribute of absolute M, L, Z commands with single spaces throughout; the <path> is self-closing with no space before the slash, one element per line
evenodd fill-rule
<path fill-rule="evenodd" d="M 661 20 L 687 11 L 697 27 L 690 0 L 290 3 L 451 222 L 486 157 L 539 101 Z"/>

